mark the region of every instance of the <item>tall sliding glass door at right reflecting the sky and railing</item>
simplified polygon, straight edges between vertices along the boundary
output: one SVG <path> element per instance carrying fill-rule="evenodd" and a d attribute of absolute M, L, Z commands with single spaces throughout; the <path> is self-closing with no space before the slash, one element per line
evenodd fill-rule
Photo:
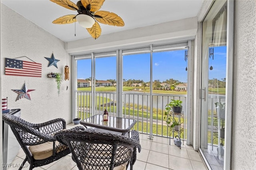
<path fill-rule="evenodd" d="M 200 149 L 212 169 L 223 169 L 227 61 L 227 2 L 215 1 L 202 22 Z"/>

